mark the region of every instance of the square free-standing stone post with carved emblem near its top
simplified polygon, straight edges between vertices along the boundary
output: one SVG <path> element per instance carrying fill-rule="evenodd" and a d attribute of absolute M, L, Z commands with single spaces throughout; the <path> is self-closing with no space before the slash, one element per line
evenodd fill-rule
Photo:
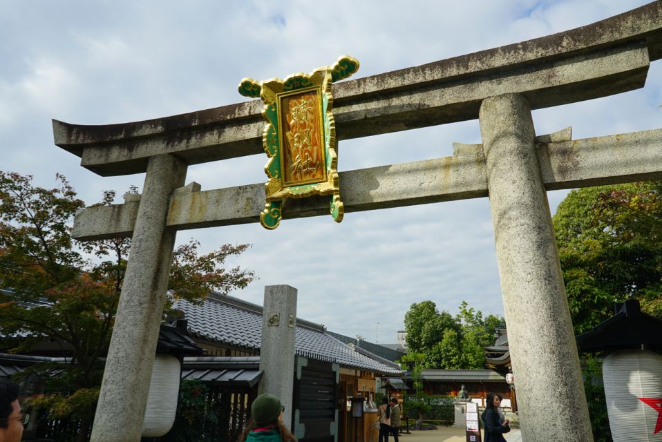
<path fill-rule="evenodd" d="M 260 369 L 265 374 L 258 391 L 281 399 L 285 405 L 283 423 L 291 430 L 296 289 L 289 285 L 267 285 L 264 305 Z"/>

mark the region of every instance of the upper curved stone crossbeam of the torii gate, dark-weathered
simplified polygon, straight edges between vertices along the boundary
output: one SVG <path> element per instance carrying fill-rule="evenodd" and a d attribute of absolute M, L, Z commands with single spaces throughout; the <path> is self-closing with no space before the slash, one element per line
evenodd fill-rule
<path fill-rule="evenodd" d="M 559 34 L 334 84 L 337 136 L 475 119 L 483 99 L 504 93 L 519 93 L 533 109 L 622 93 L 641 88 L 661 57 L 662 3 L 654 2 Z M 54 120 L 53 132 L 82 166 L 124 175 L 144 172 L 163 153 L 189 165 L 263 153 L 262 107 L 252 100 L 105 126 Z"/>

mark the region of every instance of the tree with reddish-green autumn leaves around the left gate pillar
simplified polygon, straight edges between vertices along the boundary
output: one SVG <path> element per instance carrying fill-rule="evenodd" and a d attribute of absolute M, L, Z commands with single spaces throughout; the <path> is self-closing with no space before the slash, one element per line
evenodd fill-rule
<path fill-rule="evenodd" d="M 114 197 L 106 192 L 100 204 L 111 204 Z M 29 175 L 0 171 L 0 287 L 5 289 L 0 291 L 0 351 L 58 345 L 69 358 L 64 369 L 37 364 L 24 372 L 47 374 L 41 376 L 46 394 L 34 396 L 32 403 L 55 417 L 84 419 L 86 425 L 95 408 L 100 357 L 108 350 L 131 241 L 77 244 L 69 226 L 83 207 L 62 175 L 54 189 L 43 189 L 33 186 Z M 222 267 L 248 244 L 226 244 L 202 256 L 199 245 L 191 240 L 173 253 L 169 289 L 174 297 L 200 301 L 209 291 L 227 294 L 254 279 L 252 271 Z"/>

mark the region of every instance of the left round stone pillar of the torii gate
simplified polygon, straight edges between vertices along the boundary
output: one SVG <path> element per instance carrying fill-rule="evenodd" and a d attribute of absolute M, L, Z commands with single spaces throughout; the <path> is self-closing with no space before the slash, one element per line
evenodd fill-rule
<path fill-rule="evenodd" d="M 149 159 L 131 253 L 117 307 L 91 441 L 138 442 L 176 231 L 166 229 L 172 191 L 187 166 L 171 155 Z"/>

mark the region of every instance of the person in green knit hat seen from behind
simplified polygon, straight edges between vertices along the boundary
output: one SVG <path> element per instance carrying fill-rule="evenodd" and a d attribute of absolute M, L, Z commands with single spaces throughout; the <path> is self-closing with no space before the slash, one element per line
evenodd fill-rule
<path fill-rule="evenodd" d="M 261 394 L 251 405 L 251 419 L 238 442 L 296 442 L 283 425 L 285 407 L 273 394 Z"/>

